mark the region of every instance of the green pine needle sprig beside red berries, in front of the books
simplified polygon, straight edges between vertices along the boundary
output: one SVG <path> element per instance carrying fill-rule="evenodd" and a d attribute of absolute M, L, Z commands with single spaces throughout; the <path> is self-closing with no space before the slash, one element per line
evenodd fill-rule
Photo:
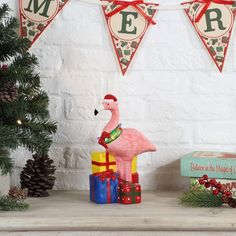
<path fill-rule="evenodd" d="M 190 190 L 179 198 L 179 204 L 188 207 L 219 207 L 223 204 L 220 196 L 213 195 L 209 190 Z"/>

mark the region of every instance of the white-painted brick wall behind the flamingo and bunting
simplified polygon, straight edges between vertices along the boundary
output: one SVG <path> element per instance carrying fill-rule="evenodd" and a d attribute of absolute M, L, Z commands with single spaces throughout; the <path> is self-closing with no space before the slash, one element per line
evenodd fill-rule
<path fill-rule="evenodd" d="M 0 0 L 0 3 L 6 0 Z M 17 15 L 16 0 L 7 0 Z M 160 0 L 177 4 L 175 0 Z M 160 11 L 125 78 L 121 77 L 99 6 L 70 0 L 32 47 L 40 61 L 50 111 L 58 121 L 51 148 L 56 189 L 87 189 L 90 152 L 109 114 L 93 110 L 107 93 L 120 101 L 123 127 L 142 131 L 158 147 L 138 159 L 143 188 L 181 188 L 179 158 L 192 150 L 235 151 L 235 35 L 218 73 L 182 10 Z M 65 168 L 65 152 L 71 156 Z M 13 153 L 12 184 L 28 152 Z"/>

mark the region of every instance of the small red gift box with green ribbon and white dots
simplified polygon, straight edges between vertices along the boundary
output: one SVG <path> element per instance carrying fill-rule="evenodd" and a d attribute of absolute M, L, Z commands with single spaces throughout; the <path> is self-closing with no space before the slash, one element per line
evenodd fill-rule
<path fill-rule="evenodd" d="M 118 202 L 121 204 L 137 204 L 141 202 L 141 185 L 131 182 L 119 182 Z"/>

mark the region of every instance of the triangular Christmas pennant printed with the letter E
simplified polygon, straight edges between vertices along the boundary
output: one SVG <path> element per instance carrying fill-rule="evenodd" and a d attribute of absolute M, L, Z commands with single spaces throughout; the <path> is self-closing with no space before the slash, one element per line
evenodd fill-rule
<path fill-rule="evenodd" d="M 103 13 L 110 32 L 122 74 L 124 75 L 149 28 L 158 4 L 143 1 L 102 1 Z"/>

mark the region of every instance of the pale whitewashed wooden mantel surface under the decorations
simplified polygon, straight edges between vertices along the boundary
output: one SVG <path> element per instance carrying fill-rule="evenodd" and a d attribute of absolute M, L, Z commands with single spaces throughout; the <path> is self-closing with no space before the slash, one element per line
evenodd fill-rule
<path fill-rule="evenodd" d="M 88 192 L 55 191 L 29 198 L 24 212 L 1 212 L 1 232 L 19 231 L 236 231 L 236 209 L 185 208 L 178 192 L 142 192 L 136 205 L 89 202 Z M 235 233 L 236 235 L 236 233 Z"/>

